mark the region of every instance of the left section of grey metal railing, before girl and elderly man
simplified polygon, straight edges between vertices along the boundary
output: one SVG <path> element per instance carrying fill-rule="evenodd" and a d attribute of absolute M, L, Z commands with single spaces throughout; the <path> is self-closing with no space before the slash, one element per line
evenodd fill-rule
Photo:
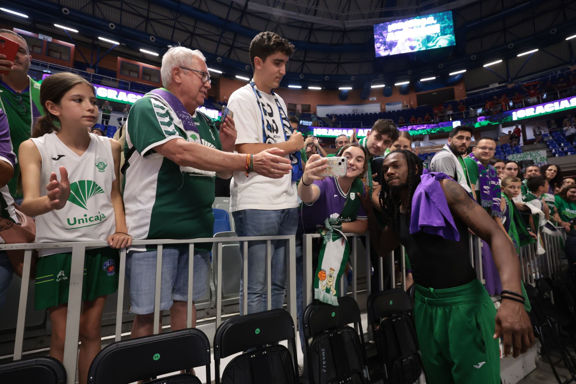
<path fill-rule="evenodd" d="M 137 245 L 150 245 L 158 246 L 157 260 L 156 260 L 156 283 L 155 283 L 155 296 L 154 296 L 154 334 L 158 333 L 160 325 L 160 287 L 161 287 L 161 272 L 162 272 L 162 250 L 164 245 L 181 244 L 182 246 L 188 245 L 188 300 L 187 300 L 187 328 L 192 326 L 192 287 L 194 286 L 194 245 L 197 243 L 215 243 L 217 244 L 217 252 L 213 254 L 213 261 L 215 268 L 217 268 L 216 276 L 216 321 L 215 329 L 221 324 L 222 313 L 222 244 L 228 242 L 243 241 L 244 254 L 248 254 L 249 241 L 266 241 L 266 283 L 267 283 L 267 309 L 271 309 L 271 241 L 286 241 L 286 299 L 287 310 L 293 318 L 294 324 L 296 321 L 296 267 L 295 267 L 295 236 L 282 235 L 282 236 L 252 236 L 252 237 L 228 237 L 228 238 L 197 238 L 197 239 L 153 239 L 153 240 L 136 240 L 132 242 L 132 246 Z M 74 384 L 76 379 L 76 366 L 78 357 L 78 332 L 80 323 L 80 313 L 82 307 L 82 282 L 84 277 L 84 258 L 85 251 L 88 247 L 107 247 L 108 243 L 105 241 L 89 241 L 89 242 L 61 242 L 61 243 L 47 243 L 47 244 L 3 244 L 0 245 L 0 250 L 25 250 L 24 252 L 24 268 L 22 271 L 22 281 L 20 286 L 20 300 L 18 303 L 18 321 L 16 325 L 16 338 L 14 340 L 14 360 L 22 358 L 22 346 L 24 343 L 24 328 L 26 316 L 26 303 L 28 302 L 28 287 L 30 280 L 30 270 L 32 264 L 32 252 L 34 249 L 62 249 L 67 248 L 64 252 L 69 252 L 72 249 L 72 262 L 70 267 L 69 276 L 69 299 L 67 306 L 67 321 L 66 321 L 66 337 L 64 343 L 64 357 L 63 365 L 67 372 L 67 384 Z M 118 265 L 119 282 L 118 282 L 118 303 L 116 307 L 116 330 L 115 341 L 120 341 L 122 337 L 122 316 L 123 316 L 123 300 L 124 300 L 124 280 L 126 279 L 126 248 L 120 250 L 120 262 Z M 244 313 L 247 313 L 247 298 L 248 298 L 248 257 L 244 257 Z M 289 340 L 289 343 L 291 341 Z M 289 345 L 289 350 L 291 347 Z"/>

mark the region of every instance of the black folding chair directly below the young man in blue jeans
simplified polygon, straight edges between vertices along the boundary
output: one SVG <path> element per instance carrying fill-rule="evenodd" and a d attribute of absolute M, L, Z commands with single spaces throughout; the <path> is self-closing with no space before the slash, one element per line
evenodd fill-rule
<path fill-rule="evenodd" d="M 216 384 L 298 384 L 295 337 L 294 321 L 283 309 L 228 318 L 214 335 Z M 283 340 L 291 340 L 291 355 L 276 344 Z M 226 365 L 220 379 L 220 360 L 247 350 Z"/>

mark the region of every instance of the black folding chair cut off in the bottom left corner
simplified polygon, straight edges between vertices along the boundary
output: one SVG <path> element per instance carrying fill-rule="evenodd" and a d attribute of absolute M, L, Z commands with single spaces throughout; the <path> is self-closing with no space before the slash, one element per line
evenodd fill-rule
<path fill-rule="evenodd" d="M 16 360 L 0 365 L 0 383 L 66 384 L 66 370 L 54 358 Z"/>

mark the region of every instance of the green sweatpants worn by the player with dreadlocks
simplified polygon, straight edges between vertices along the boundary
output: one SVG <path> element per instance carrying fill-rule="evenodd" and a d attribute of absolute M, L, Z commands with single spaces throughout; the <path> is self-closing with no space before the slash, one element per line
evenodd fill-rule
<path fill-rule="evenodd" d="M 478 279 L 442 290 L 416 284 L 414 321 L 427 384 L 500 384 L 495 316 Z"/>

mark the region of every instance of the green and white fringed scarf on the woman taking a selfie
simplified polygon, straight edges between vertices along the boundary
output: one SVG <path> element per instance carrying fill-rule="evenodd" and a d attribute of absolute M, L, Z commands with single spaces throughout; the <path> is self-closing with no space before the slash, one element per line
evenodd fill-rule
<path fill-rule="evenodd" d="M 350 256 L 348 240 L 342 231 L 342 220 L 355 220 L 361 204 L 356 193 L 363 191 L 362 180 L 355 178 L 346 194 L 346 201 L 339 217 L 326 218 L 324 220 L 326 229 L 320 231 L 324 241 L 314 276 L 314 299 L 323 303 L 338 305 L 338 296 L 340 295 L 338 282 Z"/>

